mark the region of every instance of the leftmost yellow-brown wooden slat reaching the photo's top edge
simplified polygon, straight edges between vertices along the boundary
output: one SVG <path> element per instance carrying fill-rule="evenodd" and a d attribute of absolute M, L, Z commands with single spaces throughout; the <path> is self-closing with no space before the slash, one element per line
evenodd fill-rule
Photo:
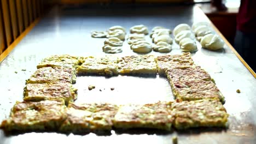
<path fill-rule="evenodd" d="M 8 0 L 2 0 L 2 13 L 3 13 L 3 23 L 4 23 L 4 29 L 5 29 L 6 43 L 7 43 L 7 46 L 9 46 L 13 41 L 13 34 L 11 32 Z"/>

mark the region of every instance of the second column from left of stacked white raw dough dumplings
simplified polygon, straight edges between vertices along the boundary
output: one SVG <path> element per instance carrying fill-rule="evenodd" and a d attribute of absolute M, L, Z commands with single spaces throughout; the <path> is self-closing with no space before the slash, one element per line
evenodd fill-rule
<path fill-rule="evenodd" d="M 127 43 L 131 50 L 138 53 L 148 53 L 152 51 L 152 45 L 149 44 L 145 35 L 148 34 L 148 28 L 144 25 L 136 25 L 130 28 L 130 35 L 127 38 Z"/>

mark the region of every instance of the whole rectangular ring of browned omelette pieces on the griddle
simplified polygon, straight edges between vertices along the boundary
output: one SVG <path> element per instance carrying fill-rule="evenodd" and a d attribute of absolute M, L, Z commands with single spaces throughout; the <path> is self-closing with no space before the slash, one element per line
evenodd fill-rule
<path fill-rule="evenodd" d="M 26 82 L 24 101 L 14 105 L 1 128 L 7 131 L 86 133 L 112 128 L 171 130 L 172 125 L 177 129 L 225 127 L 228 114 L 222 105 L 224 97 L 210 75 L 193 63 L 189 53 L 127 56 L 117 58 L 114 63 L 110 58 L 114 57 L 100 58 L 100 61 L 94 57 L 68 55 L 45 58 Z M 117 73 L 111 69 L 113 65 L 117 65 Z M 125 75 L 157 72 L 168 77 L 176 101 L 146 105 L 73 103 L 77 97 L 77 89 L 72 87 L 75 73 Z"/>

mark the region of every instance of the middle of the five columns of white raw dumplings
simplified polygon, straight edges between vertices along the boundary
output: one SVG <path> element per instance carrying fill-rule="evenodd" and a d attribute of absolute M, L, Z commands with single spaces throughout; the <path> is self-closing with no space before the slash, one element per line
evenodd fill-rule
<path fill-rule="evenodd" d="M 159 26 L 154 27 L 150 34 L 150 38 L 152 38 L 154 43 L 153 50 L 158 52 L 170 52 L 172 50 L 171 33 L 171 29 Z"/>

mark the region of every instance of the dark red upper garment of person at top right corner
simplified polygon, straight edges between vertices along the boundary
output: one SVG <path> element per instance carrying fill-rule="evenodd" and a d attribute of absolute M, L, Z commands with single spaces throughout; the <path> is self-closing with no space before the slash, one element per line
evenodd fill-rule
<path fill-rule="evenodd" d="M 256 33 L 256 1 L 241 0 L 237 14 L 237 30 Z"/>

